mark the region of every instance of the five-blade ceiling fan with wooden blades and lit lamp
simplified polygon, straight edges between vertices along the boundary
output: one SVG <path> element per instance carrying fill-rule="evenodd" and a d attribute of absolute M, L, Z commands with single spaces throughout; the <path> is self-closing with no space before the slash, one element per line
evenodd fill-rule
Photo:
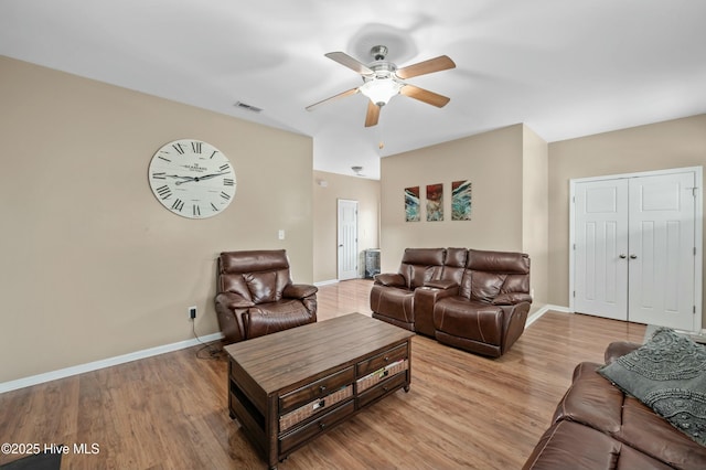
<path fill-rule="evenodd" d="M 308 111 L 313 110 L 324 103 L 362 93 L 370 98 L 367 102 L 365 127 L 371 127 L 377 124 L 381 108 L 395 95 L 405 95 L 438 108 L 446 106 L 450 100 L 450 98 L 443 95 L 419 88 L 405 82 L 407 78 L 419 75 L 454 68 L 456 64 L 446 55 L 440 55 L 402 68 L 397 68 L 394 63 L 385 60 L 387 56 L 387 47 L 384 45 L 376 45 L 371 49 L 371 55 L 374 61 L 367 65 L 344 52 L 330 52 L 324 55 L 341 65 L 345 65 L 353 72 L 361 74 L 363 85 L 307 106 Z"/>

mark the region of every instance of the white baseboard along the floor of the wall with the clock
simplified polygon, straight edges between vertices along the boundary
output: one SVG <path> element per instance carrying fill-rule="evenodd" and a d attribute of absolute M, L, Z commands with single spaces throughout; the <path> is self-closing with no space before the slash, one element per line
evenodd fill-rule
<path fill-rule="evenodd" d="M 183 350 L 186 348 L 195 346 L 201 342 L 208 343 L 223 338 L 223 333 L 206 334 L 205 337 L 199 337 L 191 340 L 180 341 L 176 343 L 164 344 L 162 346 L 150 348 L 142 351 L 136 351 L 128 354 L 118 355 L 115 357 L 108 357 L 100 361 L 94 361 L 86 364 L 74 365 L 72 367 L 60 368 L 58 371 L 46 372 L 44 374 L 32 375 L 30 377 L 18 378 L 17 381 L 10 381 L 0 383 L 0 394 L 14 391 L 18 388 L 24 388 L 32 385 L 43 384 L 45 382 L 55 381 L 57 378 L 71 377 L 72 375 L 83 374 L 84 372 L 96 371 L 98 368 L 110 367 L 113 365 L 125 364 L 126 362 L 137 361 L 140 359 L 151 357 L 153 355 L 164 354 L 172 351 Z M 201 340 L 201 341 L 199 341 Z"/>

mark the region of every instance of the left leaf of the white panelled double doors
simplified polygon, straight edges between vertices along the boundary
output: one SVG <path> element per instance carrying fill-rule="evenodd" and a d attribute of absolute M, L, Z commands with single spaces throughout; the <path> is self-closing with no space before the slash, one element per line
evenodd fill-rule
<path fill-rule="evenodd" d="M 574 309 L 628 320 L 628 180 L 576 184 Z"/>

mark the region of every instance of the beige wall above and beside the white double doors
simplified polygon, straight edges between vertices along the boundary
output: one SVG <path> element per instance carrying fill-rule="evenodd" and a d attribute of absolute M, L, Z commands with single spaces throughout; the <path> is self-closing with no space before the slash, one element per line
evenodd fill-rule
<path fill-rule="evenodd" d="M 569 305 L 569 180 L 704 164 L 706 115 L 550 143 L 549 303 Z"/>

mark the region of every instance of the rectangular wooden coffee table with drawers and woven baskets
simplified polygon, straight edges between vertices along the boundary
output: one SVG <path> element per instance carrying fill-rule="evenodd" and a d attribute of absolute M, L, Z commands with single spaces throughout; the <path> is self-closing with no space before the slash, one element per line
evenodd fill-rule
<path fill-rule="evenodd" d="M 228 409 L 270 469 L 399 388 L 411 331 L 350 313 L 225 346 Z"/>

